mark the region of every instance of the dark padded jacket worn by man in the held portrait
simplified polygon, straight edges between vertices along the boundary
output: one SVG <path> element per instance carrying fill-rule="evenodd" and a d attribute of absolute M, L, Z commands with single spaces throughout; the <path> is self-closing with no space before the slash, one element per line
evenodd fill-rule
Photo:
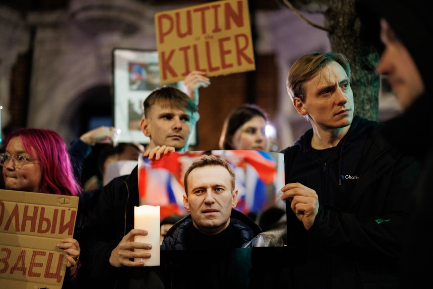
<path fill-rule="evenodd" d="M 232 209 L 232 214 L 230 215 L 230 222 L 236 232 L 236 238 L 239 239 L 239 242 L 231 240 L 231 246 L 235 243 L 240 243 L 241 245 L 237 247 L 243 248 L 261 232 L 260 227 L 253 220 L 234 209 Z M 191 226 L 193 226 L 191 215 L 187 215 L 174 224 L 165 235 L 161 250 L 185 250 L 187 248 L 185 244 L 185 231 L 190 229 Z M 230 248 L 233 248 L 231 246 Z M 220 249 L 223 248 L 220 246 Z"/>

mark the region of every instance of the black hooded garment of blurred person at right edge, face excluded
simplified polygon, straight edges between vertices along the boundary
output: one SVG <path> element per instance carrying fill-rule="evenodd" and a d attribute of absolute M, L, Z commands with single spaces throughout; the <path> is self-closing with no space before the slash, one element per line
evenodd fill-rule
<path fill-rule="evenodd" d="M 426 264 L 433 259 L 430 236 L 433 234 L 431 204 L 433 203 L 433 17 L 423 0 L 358 0 L 357 9 L 367 24 L 366 32 L 373 33 L 377 19 L 385 18 L 414 60 L 426 91 L 402 115 L 388 122 L 386 137 L 402 151 L 422 161 L 420 178 L 413 190 L 415 204 L 409 221 L 409 234 L 404 245 L 405 255 L 400 288 L 422 288 L 431 281 L 431 270 Z M 377 30 L 377 29 L 376 29 Z"/>

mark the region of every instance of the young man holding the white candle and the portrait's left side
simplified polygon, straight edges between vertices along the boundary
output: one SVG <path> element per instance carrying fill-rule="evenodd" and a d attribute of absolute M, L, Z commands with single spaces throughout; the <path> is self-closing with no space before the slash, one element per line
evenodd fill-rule
<path fill-rule="evenodd" d="M 159 159 L 162 153 L 187 149 L 198 112 L 197 105 L 186 93 L 171 86 L 160 87 L 146 98 L 143 108 L 140 127 L 150 138 L 143 156 Z M 134 242 L 134 236 L 160 233 L 134 229 L 134 207 L 139 205 L 138 167 L 103 188 L 80 240 L 83 271 L 90 277 L 89 288 L 113 288 L 114 285 L 116 288 L 164 288 L 159 267 L 145 267 L 145 260 L 151 257 L 150 244 Z M 134 249 L 150 251 L 134 252 Z"/>

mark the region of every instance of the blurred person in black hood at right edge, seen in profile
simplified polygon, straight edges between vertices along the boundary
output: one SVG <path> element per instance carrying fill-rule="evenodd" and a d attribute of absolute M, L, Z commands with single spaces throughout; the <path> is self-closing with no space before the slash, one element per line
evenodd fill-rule
<path fill-rule="evenodd" d="M 421 288 L 430 282 L 430 268 L 425 264 L 433 258 L 429 238 L 433 202 L 430 182 L 433 122 L 429 121 L 433 107 L 429 79 L 433 66 L 433 17 L 422 0 L 358 0 L 356 4 L 366 35 L 376 41 L 380 37 L 383 44 L 377 72 L 387 75 L 403 108 L 401 115 L 387 122 L 385 136 L 422 162 L 420 178 L 413 191 L 415 200 L 411 212 L 414 214 L 408 225 L 400 283 L 401 288 Z"/>

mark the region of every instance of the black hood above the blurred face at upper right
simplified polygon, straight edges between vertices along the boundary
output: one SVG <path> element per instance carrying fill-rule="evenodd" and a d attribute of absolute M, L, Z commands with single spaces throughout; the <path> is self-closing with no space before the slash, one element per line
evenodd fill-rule
<path fill-rule="evenodd" d="M 432 81 L 428 75 L 433 65 L 433 17 L 427 3 L 424 0 L 356 0 L 356 8 L 365 25 L 363 37 L 375 44 L 379 43 L 379 19 L 386 19 L 409 50 L 430 95 Z"/>

